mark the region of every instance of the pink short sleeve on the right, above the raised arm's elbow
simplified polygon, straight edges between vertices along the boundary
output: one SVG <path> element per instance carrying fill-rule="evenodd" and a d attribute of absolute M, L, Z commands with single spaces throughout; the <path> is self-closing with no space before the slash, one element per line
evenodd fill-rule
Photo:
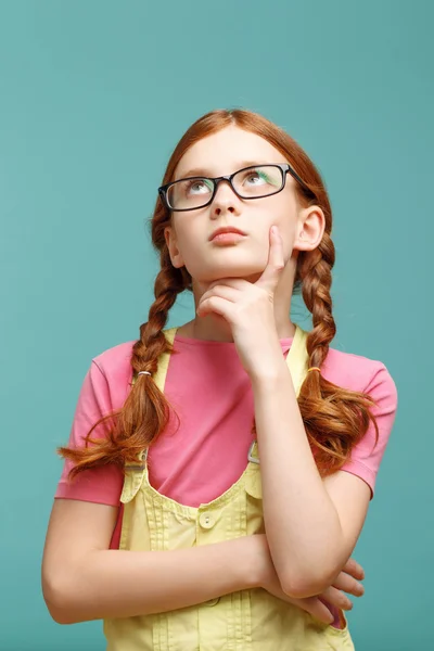
<path fill-rule="evenodd" d="M 369 394 L 378 403 L 371 411 L 379 427 L 379 439 L 375 445 L 375 429 L 370 422 L 366 435 L 353 448 L 350 460 L 341 470 L 361 477 L 370 486 L 372 499 L 376 474 L 390 439 L 398 405 L 395 382 L 382 362 L 376 362 L 363 393 Z"/>

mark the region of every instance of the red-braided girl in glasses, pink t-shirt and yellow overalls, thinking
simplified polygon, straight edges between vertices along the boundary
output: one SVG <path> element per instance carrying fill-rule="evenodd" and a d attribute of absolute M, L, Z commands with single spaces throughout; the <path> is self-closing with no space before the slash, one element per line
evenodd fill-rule
<path fill-rule="evenodd" d="M 91 360 L 60 448 L 56 622 L 103 618 L 110 651 L 354 649 L 343 591 L 362 593 L 350 554 L 397 393 L 381 361 L 330 347 L 331 228 L 318 170 L 266 118 L 213 111 L 181 138 L 149 320 Z M 184 290 L 194 318 L 165 329 Z"/>

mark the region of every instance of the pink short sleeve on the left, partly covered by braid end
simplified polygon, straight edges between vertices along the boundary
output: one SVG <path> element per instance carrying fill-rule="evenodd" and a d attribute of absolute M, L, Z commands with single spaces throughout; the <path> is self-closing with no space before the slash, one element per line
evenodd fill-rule
<path fill-rule="evenodd" d="M 78 396 L 74 420 L 69 434 L 68 447 L 85 446 L 85 438 L 92 425 L 102 417 L 113 411 L 110 387 L 104 373 L 92 360 L 86 373 Z M 92 436 L 102 437 L 105 429 L 101 425 L 92 432 Z M 119 506 L 123 487 L 123 473 L 115 464 L 86 470 L 75 480 L 68 480 L 68 472 L 74 463 L 64 461 L 62 475 L 54 497 L 79 499 L 108 506 Z"/>

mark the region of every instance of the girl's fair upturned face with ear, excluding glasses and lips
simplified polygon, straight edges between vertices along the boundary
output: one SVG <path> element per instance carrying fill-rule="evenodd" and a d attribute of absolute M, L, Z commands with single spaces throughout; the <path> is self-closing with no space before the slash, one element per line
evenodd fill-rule
<path fill-rule="evenodd" d="M 251 164 L 286 162 L 264 138 L 230 126 L 193 144 L 179 162 L 174 180 L 197 175 L 218 177 Z M 201 171 L 191 174 L 193 169 Z M 315 247 L 322 237 L 320 222 L 314 219 L 317 227 L 312 233 L 309 219 L 312 221 L 310 214 L 315 210 L 302 208 L 295 183 L 288 174 L 281 192 L 243 200 L 222 181 L 208 206 L 173 212 L 171 226 L 165 230 L 173 265 L 186 266 L 193 284 L 206 285 L 220 278 L 235 277 L 255 282 L 267 265 L 269 231 L 273 225 L 279 227 L 283 240 L 285 264 L 294 252 Z M 209 241 L 210 234 L 225 226 L 237 227 L 246 235 L 228 243 Z"/>

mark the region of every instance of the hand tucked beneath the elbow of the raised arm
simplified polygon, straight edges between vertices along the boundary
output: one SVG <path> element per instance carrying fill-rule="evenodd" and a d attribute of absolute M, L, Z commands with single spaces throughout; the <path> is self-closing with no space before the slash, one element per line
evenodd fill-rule
<path fill-rule="evenodd" d="M 363 595 L 363 586 L 356 580 L 365 577 L 363 570 L 354 559 L 349 559 L 343 571 L 337 575 L 333 585 L 320 595 L 317 595 L 316 597 L 306 597 L 304 599 L 289 597 L 281 588 L 279 577 L 271 560 L 266 535 L 257 534 L 252 536 L 252 539 L 257 544 L 257 553 L 259 554 L 259 559 L 257 559 L 259 567 L 258 587 L 264 588 L 267 592 L 270 592 L 270 595 L 273 595 L 279 599 L 282 599 L 282 601 L 292 603 L 306 611 L 324 624 L 331 624 L 333 622 L 333 615 L 327 608 L 327 603 L 342 610 L 352 610 L 353 602 L 346 597 L 343 590 L 355 597 L 361 597 Z"/>

